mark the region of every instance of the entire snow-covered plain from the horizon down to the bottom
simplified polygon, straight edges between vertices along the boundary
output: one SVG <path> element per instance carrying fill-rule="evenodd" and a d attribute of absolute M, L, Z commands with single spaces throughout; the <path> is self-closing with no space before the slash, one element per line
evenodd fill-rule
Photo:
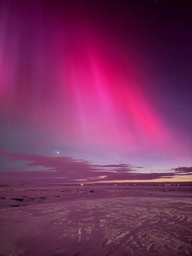
<path fill-rule="evenodd" d="M 190 186 L 1 187 L 1 256 L 192 254 Z"/>

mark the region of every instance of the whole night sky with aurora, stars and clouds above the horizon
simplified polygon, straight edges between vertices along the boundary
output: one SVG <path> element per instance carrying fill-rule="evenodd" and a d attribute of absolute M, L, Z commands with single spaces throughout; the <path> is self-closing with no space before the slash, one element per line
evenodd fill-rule
<path fill-rule="evenodd" d="M 0 0 L 2 184 L 190 181 L 187 1 Z"/>

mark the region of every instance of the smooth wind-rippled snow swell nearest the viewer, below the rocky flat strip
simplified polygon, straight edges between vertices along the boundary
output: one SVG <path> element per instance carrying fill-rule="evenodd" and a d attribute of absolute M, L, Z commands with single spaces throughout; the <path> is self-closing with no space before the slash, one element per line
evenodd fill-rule
<path fill-rule="evenodd" d="M 1 210 L 2 255 L 185 256 L 192 213 L 184 198 L 108 198 Z"/>

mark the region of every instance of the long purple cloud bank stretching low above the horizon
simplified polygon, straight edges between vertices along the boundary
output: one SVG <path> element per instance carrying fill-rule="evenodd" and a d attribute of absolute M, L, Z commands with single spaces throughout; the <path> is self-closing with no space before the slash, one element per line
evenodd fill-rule
<path fill-rule="evenodd" d="M 27 161 L 26 170 L 18 168 L 7 168 L 1 172 L 1 177 L 22 178 L 23 183 L 59 183 L 77 181 L 110 181 L 110 180 L 154 180 L 158 178 L 173 178 L 183 176 L 192 171 L 192 167 L 178 167 L 171 169 L 170 172 L 150 172 L 140 173 L 131 164 L 93 164 L 87 160 L 74 159 L 67 156 L 44 156 L 38 154 L 0 152 L 0 156 L 6 156 L 11 161 Z M 36 167 L 35 171 L 30 168 Z M 25 182 L 26 181 L 26 182 Z"/>

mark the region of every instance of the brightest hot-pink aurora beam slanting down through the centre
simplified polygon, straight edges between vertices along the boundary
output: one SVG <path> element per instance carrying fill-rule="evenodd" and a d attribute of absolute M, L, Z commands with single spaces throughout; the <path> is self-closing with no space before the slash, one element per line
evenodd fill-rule
<path fill-rule="evenodd" d="M 114 62 L 106 42 L 97 44 L 89 37 L 81 31 L 76 45 L 71 35 L 73 43 L 67 49 L 63 43 L 65 53 L 58 63 L 60 90 L 63 98 L 68 95 L 72 119 L 68 132 L 76 126 L 77 140 L 100 147 L 172 150 L 170 133 L 134 80 L 134 72 L 118 56 Z M 130 62 L 131 57 L 125 56 Z"/>

